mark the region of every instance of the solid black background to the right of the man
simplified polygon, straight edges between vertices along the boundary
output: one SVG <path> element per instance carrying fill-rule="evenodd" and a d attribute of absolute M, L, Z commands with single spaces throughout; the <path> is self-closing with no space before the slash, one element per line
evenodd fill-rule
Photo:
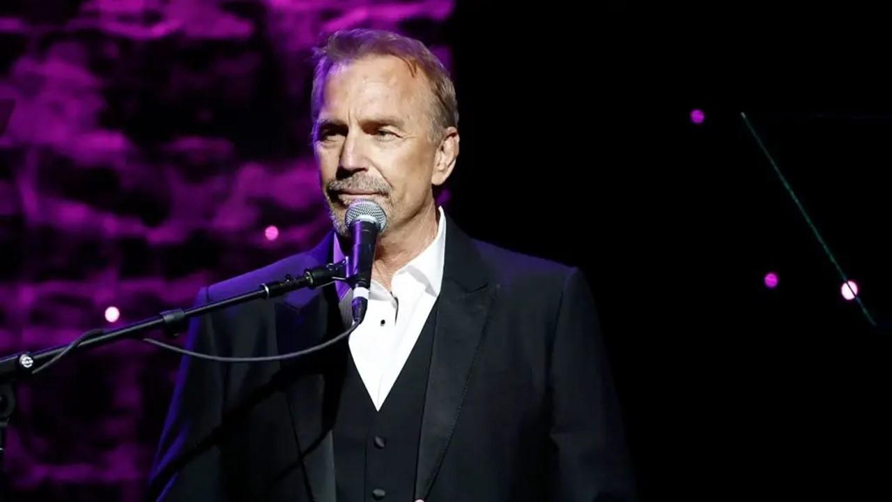
<path fill-rule="evenodd" d="M 458 7 L 473 119 L 453 211 L 588 272 L 644 498 L 888 496 L 888 329 L 841 297 L 739 115 L 888 321 L 892 113 L 869 14 Z"/>

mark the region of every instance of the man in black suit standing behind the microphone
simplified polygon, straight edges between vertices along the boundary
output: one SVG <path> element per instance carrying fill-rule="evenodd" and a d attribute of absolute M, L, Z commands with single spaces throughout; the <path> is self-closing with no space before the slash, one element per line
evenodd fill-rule
<path fill-rule="evenodd" d="M 591 501 L 632 481 L 591 293 L 576 269 L 475 241 L 434 202 L 458 157 L 433 54 L 372 30 L 319 51 L 313 145 L 335 231 L 200 302 L 338 261 L 347 207 L 388 217 L 365 322 L 285 363 L 186 358 L 150 483 L 163 500 Z M 194 322 L 189 345 L 268 356 L 350 326 L 351 290 L 301 289 Z M 616 498 L 613 498 L 616 497 Z M 630 497 L 631 498 L 631 497 Z"/>

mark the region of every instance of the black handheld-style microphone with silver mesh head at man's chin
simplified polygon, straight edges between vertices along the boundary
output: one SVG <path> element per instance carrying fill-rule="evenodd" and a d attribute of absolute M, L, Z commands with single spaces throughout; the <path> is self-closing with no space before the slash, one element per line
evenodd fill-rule
<path fill-rule="evenodd" d="M 378 234 L 387 228 L 387 214 L 374 201 L 363 199 L 347 208 L 343 220 L 353 238 L 350 256 L 347 258 L 347 278 L 353 288 L 353 322 L 359 324 L 366 317 L 375 246 Z"/>

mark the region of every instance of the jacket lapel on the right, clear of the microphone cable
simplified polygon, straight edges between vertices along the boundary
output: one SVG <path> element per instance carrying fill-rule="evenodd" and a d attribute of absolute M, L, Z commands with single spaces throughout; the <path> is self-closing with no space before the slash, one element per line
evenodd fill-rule
<path fill-rule="evenodd" d="M 427 379 L 415 498 L 427 498 L 474 373 L 496 287 L 474 243 L 447 219 L 443 282 Z"/>

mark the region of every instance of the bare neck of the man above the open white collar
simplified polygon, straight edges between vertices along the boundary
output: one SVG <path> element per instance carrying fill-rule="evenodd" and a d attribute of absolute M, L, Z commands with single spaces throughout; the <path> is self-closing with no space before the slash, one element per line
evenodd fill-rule
<path fill-rule="evenodd" d="M 399 228 L 394 228 L 378 239 L 372 279 L 391 289 L 393 274 L 420 255 L 434 242 L 438 230 L 438 212 L 432 201 L 420 213 Z"/>

